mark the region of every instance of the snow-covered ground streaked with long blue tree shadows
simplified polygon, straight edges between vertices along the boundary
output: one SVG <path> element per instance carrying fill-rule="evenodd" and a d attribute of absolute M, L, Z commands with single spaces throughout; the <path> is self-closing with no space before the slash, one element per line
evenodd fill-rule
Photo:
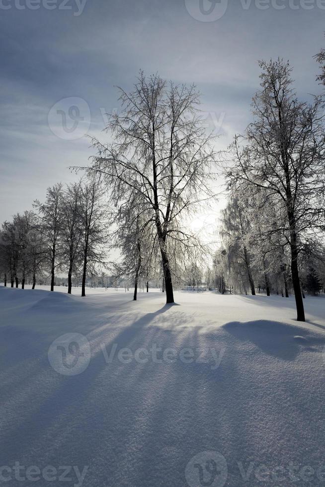
<path fill-rule="evenodd" d="M 1 486 L 325 485 L 324 297 L 93 291 L 0 287 Z"/>

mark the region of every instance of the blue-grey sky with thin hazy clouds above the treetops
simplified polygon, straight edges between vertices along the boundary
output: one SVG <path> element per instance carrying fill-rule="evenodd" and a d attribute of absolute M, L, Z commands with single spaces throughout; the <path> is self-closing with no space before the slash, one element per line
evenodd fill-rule
<path fill-rule="evenodd" d="M 325 0 L 0 0 L 0 222 L 79 177 L 140 69 L 197 85 L 217 149 L 250 121 L 259 59 L 319 93 L 324 20 Z"/>

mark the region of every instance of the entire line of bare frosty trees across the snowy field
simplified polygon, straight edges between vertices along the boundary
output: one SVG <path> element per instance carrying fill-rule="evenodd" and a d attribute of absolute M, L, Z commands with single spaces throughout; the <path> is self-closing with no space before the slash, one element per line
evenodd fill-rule
<path fill-rule="evenodd" d="M 325 52 L 317 59 L 325 82 Z M 291 68 L 281 59 L 260 68 L 253 121 L 235 137 L 224 170 L 229 203 L 213 272 L 221 292 L 230 276 L 230 289 L 249 285 L 252 294 L 261 280 L 267 294 L 284 286 L 288 295 L 292 286 L 304 321 L 302 277 L 315 283 L 325 254 L 324 99 L 299 101 Z M 86 182 L 50 188 L 33 213 L 3 224 L 1 267 L 11 285 L 18 275 L 22 283 L 26 275 L 35 282 L 45 268 L 53 290 L 59 268 L 68 272 L 69 292 L 72 274 L 81 274 L 84 295 L 87 272 L 104 264 L 104 245 L 119 250 L 109 267 L 114 279 L 133 279 L 134 299 L 139 279 L 148 287 L 149 278 L 163 274 L 167 303 L 174 301 L 175 282 L 198 282 L 209 249 L 188 222 L 214 202 L 218 162 L 199 93 L 142 72 L 133 91 L 119 89 L 121 111 L 110 115 L 106 128 L 113 142 L 92 139 L 90 166 L 76 168 L 86 170 Z"/>

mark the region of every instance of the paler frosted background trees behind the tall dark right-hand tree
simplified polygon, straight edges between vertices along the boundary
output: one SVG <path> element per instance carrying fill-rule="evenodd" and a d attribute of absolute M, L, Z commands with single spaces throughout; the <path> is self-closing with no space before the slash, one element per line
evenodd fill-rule
<path fill-rule="evenodd" d="M 246 198 L 230 198 L 222 212 L 220 232 L 223 247 L 214 256 L 210 273 L 210 286 L 235 292 L 255 295 L 263 290 L 267 296 L 272 292 L 289 297 L 293 290 L 291 277 L 291 255 L 289 243 L 279 239 L 274 232 L 277 220 L 274 208 L 245 206 Z M 256 225 L 258 217 L 264 217 L 263 227 Z M 272 210 L 272 211 L 271 211 Z M 315 242 L 304 242 L 299 250 L 299 274 L 302 289 L 310 294 L 325 292 L 325 249 Z"/>

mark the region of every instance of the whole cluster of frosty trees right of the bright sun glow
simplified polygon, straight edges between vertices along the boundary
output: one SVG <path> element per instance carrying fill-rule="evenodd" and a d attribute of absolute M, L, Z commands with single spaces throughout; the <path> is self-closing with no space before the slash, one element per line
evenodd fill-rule
<path fill-rule="evenodd" d="M 292 69 L 281 59 L 260 68 L 253 121 L 230 147 L 220 229 L 225 253 L 217 264 L 253 295 L 256 280 L 264 280 L 268 295 L 273 284 L 287 296 L 290 283 L 297 318 L 305 321 L 302 281 L 319 290 L 325 262 L 324 99 L 299 101 Z"/>

